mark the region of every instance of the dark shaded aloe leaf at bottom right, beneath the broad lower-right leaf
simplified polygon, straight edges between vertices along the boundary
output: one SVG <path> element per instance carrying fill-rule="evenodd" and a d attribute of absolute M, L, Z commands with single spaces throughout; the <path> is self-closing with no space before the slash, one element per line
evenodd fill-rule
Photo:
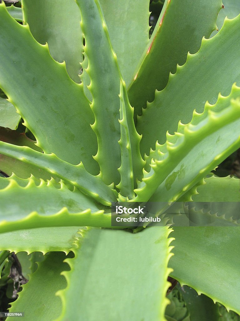
<path fill-rule="evenodd" d="M 183 286 L 179 291 L 186 303 L 191 321 L 209 320 L 209 316 L 211 321 L 220 320 L 219 307 L 212 299 L 204 294 L 197 295 L 196 291 L 189 286 Z"/>

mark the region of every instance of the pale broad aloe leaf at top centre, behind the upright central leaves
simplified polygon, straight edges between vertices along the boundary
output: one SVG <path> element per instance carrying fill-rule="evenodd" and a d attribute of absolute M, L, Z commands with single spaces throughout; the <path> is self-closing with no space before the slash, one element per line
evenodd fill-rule
<path fill-rule="evenodd" d="M 137 5 L 132 5 L 128 0 L 100 0 L 100 4 L 121 73 L 128 86 L 148 44 L 149 3 L 141 0 Z"/>

